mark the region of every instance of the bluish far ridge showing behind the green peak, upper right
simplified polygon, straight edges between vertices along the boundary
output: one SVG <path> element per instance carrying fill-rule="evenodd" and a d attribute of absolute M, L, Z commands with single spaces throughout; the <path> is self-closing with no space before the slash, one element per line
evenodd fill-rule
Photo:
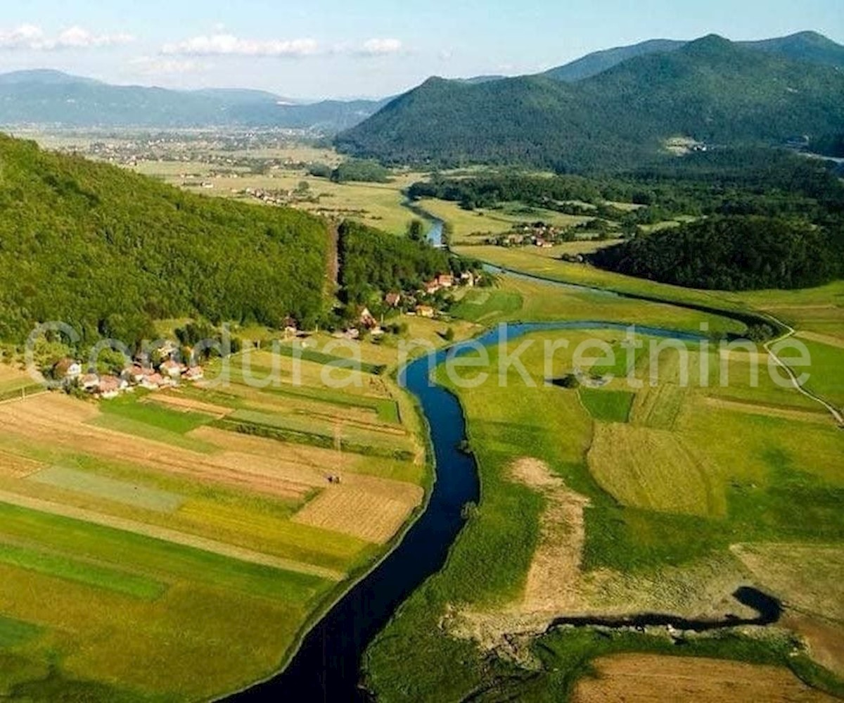
<path fill-rule="evenodd" d="M 619 63 L 637 56 L 648 54 L 674 52 L 689 42 L 674 39 L 651 39 L 631 46 L 617 46 L 602 52 L 594 52 L 566 63 L 565 66 L 551 68 L 543 75 L 547 78 L 562 80 L 567 83 L 591 78 L 603 74 L 604 71 L 618 66 Z M 809 61 L 827 66 L 844 68 L 844 46 L 827 39 L 817 32 L 799 32 L 798 34 L 764 39 L 762 41 L 739 41 L 739 46 L 748 49 L 777 54 L 796 61 Z"/>

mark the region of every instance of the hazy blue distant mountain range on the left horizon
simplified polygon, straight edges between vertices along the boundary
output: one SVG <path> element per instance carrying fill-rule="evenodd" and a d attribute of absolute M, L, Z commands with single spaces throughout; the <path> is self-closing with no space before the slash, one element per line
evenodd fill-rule
<path fill-rule="evenodd" d="M 63 127 L 281 127 L 336 133 L 385 101 L 295 104 L 262 90 L 110 85 L 59 71 L 0 75 L 0 124 Z"/>

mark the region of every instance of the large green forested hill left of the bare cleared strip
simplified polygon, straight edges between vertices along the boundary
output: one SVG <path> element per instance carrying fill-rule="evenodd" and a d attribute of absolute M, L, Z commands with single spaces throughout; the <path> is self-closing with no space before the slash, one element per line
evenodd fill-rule
<path fill-rule="evenodd" d="M 325 223 L 184 193 L 0 135 L 0 341 L 61 320 L 86 341 L 150 321 L 284 324 L 322 311 Z"/>

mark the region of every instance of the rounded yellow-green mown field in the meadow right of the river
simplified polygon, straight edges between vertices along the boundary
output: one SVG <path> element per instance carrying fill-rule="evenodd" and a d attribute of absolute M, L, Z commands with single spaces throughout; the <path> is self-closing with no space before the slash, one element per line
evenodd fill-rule
<path fill-rule="evenodd" d="M 587 455 L 592 476 L 625 505 L 688 515 L 722 514 L 714 467 L 679 435 L 629 424 L 598 424 Z"/>

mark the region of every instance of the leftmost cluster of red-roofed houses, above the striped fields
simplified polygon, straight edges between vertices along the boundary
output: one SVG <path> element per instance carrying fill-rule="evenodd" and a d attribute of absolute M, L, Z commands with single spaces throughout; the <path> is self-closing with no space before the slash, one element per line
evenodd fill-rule
<path fill-rule="evenodd" d="M 160 390 L 176 386 L 181 381 L 198 381 L 204 376 L 201 366 L 187 366 L 173 358 L 167 358 L 158 368 L 133 363 L 124 368 L 119 376 L 111 373 L 84 373 L 82 364 L 73 359 L 62 359 L 53 371 L 66 387 L 78 385 L 85 392 L 103 400 L 111 400 L 135 388 Z"/>

